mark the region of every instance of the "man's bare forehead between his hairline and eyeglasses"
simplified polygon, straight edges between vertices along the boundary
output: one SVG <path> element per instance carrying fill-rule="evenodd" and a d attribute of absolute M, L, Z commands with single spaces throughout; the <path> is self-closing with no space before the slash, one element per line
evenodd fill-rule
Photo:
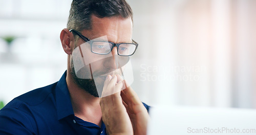
<path fill-rule="evenodd" d="M 90 39 L 107 36 L 112 42 L 127 42 L 132 40 L 132 19 L 121 16 L 99 18 L 92 15 L 92 29 L 84 30 L 83 34 Z"/>

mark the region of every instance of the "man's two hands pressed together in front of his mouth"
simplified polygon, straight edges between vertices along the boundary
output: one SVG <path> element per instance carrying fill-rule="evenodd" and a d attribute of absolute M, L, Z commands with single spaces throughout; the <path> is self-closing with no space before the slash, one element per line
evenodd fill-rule
<path fill-rule="evenodd" d="M 103 87 L 107 91 L 118 91 L 125 83 L 119 75 L 109 75 Z M 102 119 L 108 134 L 146 134 L 149 116 L 132 87 L 101 98 Z M 118 127 L 118 128 L 117 128 Z"/>

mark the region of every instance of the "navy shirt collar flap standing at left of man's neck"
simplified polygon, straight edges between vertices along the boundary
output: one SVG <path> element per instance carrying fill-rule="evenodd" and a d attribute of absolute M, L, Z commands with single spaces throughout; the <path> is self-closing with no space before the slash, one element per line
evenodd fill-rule
<path fill-rule="evenodd" d="M 69 89 L 66 82 L 66 76 L 67 76 L 67 71 L 62 75 L 55 89 L 58 120 L 63 119 L 70 115 L 74 116 Z"/>

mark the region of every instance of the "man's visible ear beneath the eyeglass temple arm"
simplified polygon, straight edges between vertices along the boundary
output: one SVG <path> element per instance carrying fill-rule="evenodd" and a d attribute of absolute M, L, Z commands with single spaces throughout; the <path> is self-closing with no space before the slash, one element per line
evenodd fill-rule
<path fill-rule="evenodd" d="M 63 50 L 67 54 L 72 54 L 72 47 L 74 46 L 74 36 L 67 28 L 61 31 L 60 41 L 61 41 Z"/>

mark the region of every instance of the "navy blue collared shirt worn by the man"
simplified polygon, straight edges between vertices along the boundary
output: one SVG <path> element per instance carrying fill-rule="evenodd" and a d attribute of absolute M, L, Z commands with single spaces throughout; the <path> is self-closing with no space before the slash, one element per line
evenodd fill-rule
<path fill-rule="evenodd" d="M 106 134 L 103 122 L 99 127 L 74 115 L 66 75 L 65 72 L 58 82 L 23 94 L 2 108 L 0 134 Z"/>

